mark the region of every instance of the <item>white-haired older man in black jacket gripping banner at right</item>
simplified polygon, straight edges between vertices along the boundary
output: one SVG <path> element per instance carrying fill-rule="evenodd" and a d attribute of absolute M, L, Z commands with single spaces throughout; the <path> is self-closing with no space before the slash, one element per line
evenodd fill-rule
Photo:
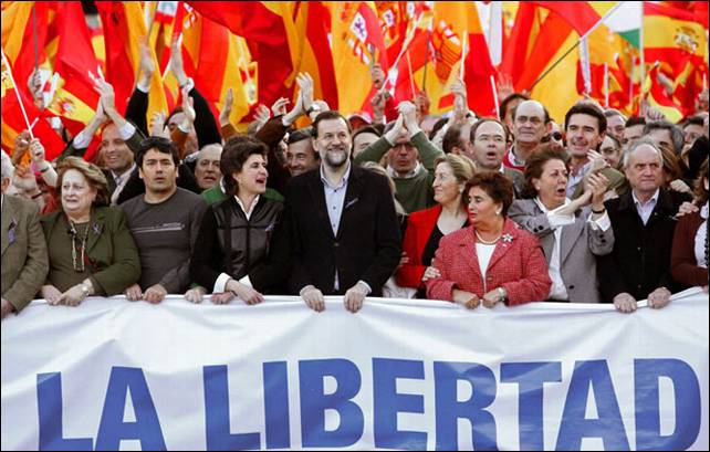
<path fill-rule="evenodd" d="M 677 288 L 670 272 L 675 216 L 690 198 L 660 188 L 662 158 L 649 138 L 634 141 L 624 168 L 631 189 L 606 202 L 615 241 L 612 253 L 598 259 L 599 290 L 623 313 L 636 311 L 644 298 L 660 308 Z"/>

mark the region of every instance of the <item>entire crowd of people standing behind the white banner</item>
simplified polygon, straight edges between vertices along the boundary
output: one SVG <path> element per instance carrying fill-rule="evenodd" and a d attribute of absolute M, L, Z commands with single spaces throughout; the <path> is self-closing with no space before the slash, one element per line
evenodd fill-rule
<path fill-rule="evenodd" d="M 179 52 L 178 52 L 179 54 Z M 708 288 L 708 93 L 681 124 L 589 99 L 557 124 L 508 93 L 500 119 L 426 93 L 379 90 L 372 118 L 313 97 L 260 108 L 247 133 L 215 118 L 180 62 L 179 108 L 146 120 L 150 67 L 126 112 L 113 87 L 54 161 L 23 132 L 2 155 L 2 317 L 33 298 L 75 306 L 123 294 L 192 303 L 299 295 L 666 306 Z M 305 127 L 297 128 L 296 124 Z M 66 134 L 65 134 L 66 135 Z M 94 161 L 83 157 L 101 139 Z M 30 165 L 22 162 L 28 154 Z"/>

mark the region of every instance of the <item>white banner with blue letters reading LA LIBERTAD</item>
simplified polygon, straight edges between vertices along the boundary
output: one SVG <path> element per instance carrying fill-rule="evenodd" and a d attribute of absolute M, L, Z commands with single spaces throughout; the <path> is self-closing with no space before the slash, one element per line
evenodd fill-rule
<path fill-rule="evenodd" d="M 708 450 L 708 295 L 620 314 L 327 297 L 34 302 L 2 450 Z"/>

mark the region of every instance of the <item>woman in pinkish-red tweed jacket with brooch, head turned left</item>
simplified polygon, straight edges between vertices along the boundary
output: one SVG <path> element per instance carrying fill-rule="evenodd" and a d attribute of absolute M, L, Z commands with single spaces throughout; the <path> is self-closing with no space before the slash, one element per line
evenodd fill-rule
<path fill-rule="evenodd" d="M 441 239 L 434 260 L 440 275 L 427 281 L 427 296 L 471 309 L 545 299 L 552 281 L 540 242 L 508 218 L 512 182 L 482 171 L 463 192 L 471 225 Z"/>

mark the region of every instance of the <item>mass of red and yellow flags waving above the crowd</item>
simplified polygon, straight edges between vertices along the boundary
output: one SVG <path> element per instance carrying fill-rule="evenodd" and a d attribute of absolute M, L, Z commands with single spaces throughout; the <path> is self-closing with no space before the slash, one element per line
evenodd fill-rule
<path fill-rule="evenodd" d="M 259 104 L 295 98 L 299 72 L 313 76 L 315 96 L 332 108 L 372 112 L 375 63 L 397 102 L 426 92 L 432 114 L 451 108 L 450 85 L 461 75 L 478 115 L 495 113 L 493 86 L 510 77 L 558 120 L 583 95 L 631 114 L 641 96 L 655 102 L 658 90 L 685 116 L 707 86 L 708 2 L 701 1 L 142 1 L 102 2 L 100 12 L 103 20 L 90 28 L 80 2 L 2 2 L 2 48 L 22 97 L 32 98 L 28 80 L 39 66 L 48 108 L 36 115 L 59 116 L 74 133 L 98 98 L 90 73 L 101 69 L 125 105 L 143 34 L 159 67 L 150 112 L 179 105 L 167 71 L 169 44 L 179 35 L 188 75 L 215 114 L 227 90 L 236 91 L 234 124 L 248 123 Z M 6 130 L 6 116 L 8 147 L 17 130 Z"/>

